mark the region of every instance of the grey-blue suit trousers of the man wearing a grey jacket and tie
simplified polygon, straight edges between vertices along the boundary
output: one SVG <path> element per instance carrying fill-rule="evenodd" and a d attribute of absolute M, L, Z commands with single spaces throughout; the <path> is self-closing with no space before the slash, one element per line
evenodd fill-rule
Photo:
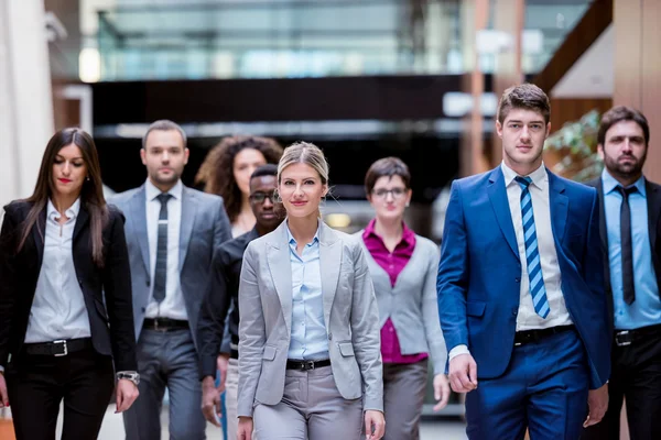
<path fill-rule="evenodd" d="M 123 413 L 127 440 L 161 440 L 161 408 L 170 394 L 170 439 L 206 439 L 197 351 L 189 330 L 142 330 L 138 339 L 140 396 Z"/>

